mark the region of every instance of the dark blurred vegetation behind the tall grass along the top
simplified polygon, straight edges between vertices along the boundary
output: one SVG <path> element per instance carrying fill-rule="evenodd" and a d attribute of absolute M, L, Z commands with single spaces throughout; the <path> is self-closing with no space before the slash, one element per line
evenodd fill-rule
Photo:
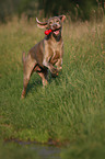
<path fill-rule="evenodd" d="M 105 11 L 104 0 L 0 0 L 0 22 L 25 14 L 28 19 L 68 14 L 72 20 L 90 20 L 95 12 Z"/>

